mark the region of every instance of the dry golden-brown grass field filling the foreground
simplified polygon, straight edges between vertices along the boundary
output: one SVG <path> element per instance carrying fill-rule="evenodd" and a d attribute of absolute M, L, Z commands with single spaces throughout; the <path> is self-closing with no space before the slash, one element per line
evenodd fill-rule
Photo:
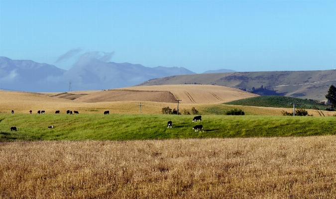
<path fill-rule="evenodd" d="M 0 198 L 336 198 L 336 136 L 0 143 Z"/>

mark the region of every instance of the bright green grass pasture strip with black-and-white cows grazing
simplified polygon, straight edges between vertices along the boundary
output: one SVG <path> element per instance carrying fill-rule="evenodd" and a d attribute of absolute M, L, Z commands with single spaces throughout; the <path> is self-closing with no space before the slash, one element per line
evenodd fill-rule
<path fill-rule="evenodd" d="M 139 114 L 0 114 L 0 141 L 145 140 L 336 134 L 336 117 Z M 167 129 L 167 121 L 173 128 Z M 205 132 L 192 127 L 202 124 Z M 48 126 L 54 125 L 54 129 Z M 10 131 L 16 126 L 17 132 Z"/>

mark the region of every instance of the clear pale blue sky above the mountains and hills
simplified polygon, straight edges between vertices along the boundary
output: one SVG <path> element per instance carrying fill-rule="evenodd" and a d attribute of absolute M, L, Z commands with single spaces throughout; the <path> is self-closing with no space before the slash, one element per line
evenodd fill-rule
<path fill-rule="evenodd" d="M 197 73 L 334 69 L 336 1 L 0 0 L 0 56 L 70 69 L 86 52 Z"/>

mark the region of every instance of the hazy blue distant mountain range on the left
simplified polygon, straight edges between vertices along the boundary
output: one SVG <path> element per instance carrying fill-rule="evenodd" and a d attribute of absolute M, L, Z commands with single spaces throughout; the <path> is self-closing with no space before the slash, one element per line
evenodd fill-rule
<path fill-rule="evenodd" d="M 195 74 L 183 67 L 145 67 L 141 64 L 103 62 L 81 57 L 70 70 L 31 60 L 0 57 L 0 89 L 32 92 L 103 90 L 128 87 L 149 79 Z"/>

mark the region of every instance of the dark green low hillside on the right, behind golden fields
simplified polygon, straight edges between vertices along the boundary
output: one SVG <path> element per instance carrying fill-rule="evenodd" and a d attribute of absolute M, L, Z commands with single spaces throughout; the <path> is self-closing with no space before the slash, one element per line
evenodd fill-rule
<path fill-rule="evenodd" d="M 258 97 L 251 97 L 246 99 L 235 100 L 232 102 L 226 102 L 224 104 L 230 105 L 241 105 L 241 106 L 261 106 L 261 107 L 275 107 L 275 108 L 292 108 L 293 105 L 291 103 L 299 103 L 296 105 L 296 108 L 303 108 L 303 109 L 316 109 L 325 110 L 329 108 L 328 106 L 321 105 L 319 103 L 293 98 L 293 97 L 285 97 L 285 96 L 258 96 Z"/>

